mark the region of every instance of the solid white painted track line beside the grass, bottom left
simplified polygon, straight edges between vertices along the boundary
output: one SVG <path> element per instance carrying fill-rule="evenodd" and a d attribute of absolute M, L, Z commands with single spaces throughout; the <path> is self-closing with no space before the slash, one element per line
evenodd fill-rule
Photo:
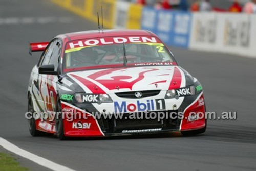
<path fill-rule="evenodd" d="M 18 146 L 10 143 L 9 141 L 5 140 L 4 138 L 0 137 L 0 146 L 3 146 L 3 148 L 19 155 L 22 156 L 26 159 L 29 159 L 41 166 L 44 166 L 46 168 L 49 168 L 51 170 L 66 170 L 66 171 L 73 171 L 72 169 L 62 166 L 60 164 L 54 163 L 50 160 L 47 160 L 45 158 L 39 157 L 35 154 L 32 154 L 26 150 L 20 149 Z"/>

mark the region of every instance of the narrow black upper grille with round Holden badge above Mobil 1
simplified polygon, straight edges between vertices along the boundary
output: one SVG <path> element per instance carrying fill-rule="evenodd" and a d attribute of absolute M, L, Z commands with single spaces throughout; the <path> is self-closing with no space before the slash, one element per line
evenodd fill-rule
<path fill-rule="evenodd" d="M 135 96 L 135 93 L 138 91 L 129 91 L 129 92 L 117 92 L 115 93 L 118 97 L 121 98 L 128 98 L 128 99 L 137 99 Z M 160 93 L 160 90 L 148 90 L 148 91 L 140 91 L 142 93 L 142 96 L 140 98 L 144 97 L 151 97 L 158 95 Z"/>

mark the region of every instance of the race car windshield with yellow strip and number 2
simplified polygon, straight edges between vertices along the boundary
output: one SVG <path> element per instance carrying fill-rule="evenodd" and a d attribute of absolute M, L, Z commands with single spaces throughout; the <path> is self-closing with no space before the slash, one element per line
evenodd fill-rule
<path fill-rule="evenodd" d="M 91 41 L 72 42 L 69 44 L 71 48 L 66 46 L 65 70 L 108 68 L 123 65 L 173 65 L 174 61 L 168 49 L 156 38 L 154 41 L 126 41 L 125 43 L 119 41 L 119 43 L 112 42 L 110 44 L 104 39 L 93 39 Z M 85 42 L 87 42 L 87 45 L 83 44 Z M 105 44 L 102 44 L 102 42 Z"/>

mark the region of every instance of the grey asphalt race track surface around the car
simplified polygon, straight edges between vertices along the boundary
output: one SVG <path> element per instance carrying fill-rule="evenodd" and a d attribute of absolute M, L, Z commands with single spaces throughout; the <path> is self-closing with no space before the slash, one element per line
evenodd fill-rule
<path fill-rule="evenodd" d="M 202 83 L 207 110 L 218 115 L 237 112 L 237 120 L 209 120 L 203 135 L 68 141 L 31 137 L 25 119 L 26 94 L 40 54 L 29 56 L 28 41 L 50 41 L 61 33 L 97 26 L 49 1 L 2 0 L 0 16 L 0 137 L 75 170 L 256 170 L 256 59 L 173 48 L 179 64 Z M 34 19 L 25 22 L 23 17 Z M 66 20 L 54 22 L 52 17 Z M 47 170 L 25 159 L 21 162 L 32 170 Z"/>

